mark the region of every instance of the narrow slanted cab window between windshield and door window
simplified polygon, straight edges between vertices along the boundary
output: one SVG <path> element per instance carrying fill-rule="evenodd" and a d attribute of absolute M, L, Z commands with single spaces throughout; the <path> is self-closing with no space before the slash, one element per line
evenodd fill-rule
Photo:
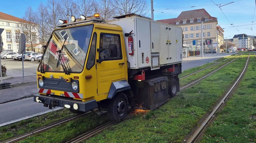
<path fill-rule="evenodd" d="M 95 64 L 95 55 L 96 55 L 96 33 L 93 34 L 92 41 L 91 41 L 91 47 L 90 47 L 90 52 L 88 55 L 87 63 L 86 63 L 86 68 L 89 70 L 91 67 L 94 66 Z"/>

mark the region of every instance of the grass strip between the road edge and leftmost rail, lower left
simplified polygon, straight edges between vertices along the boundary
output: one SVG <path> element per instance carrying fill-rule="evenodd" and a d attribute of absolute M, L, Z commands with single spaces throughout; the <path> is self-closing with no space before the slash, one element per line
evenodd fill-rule
<path fill-rule="evenodd" d="M 68 109 L 60 109 L 54 112 L 22 120 L 10 125 L 0 127 L 0 141 L 5 141 L 12 137 L 16 137 L 23 133 L 28 133 L 34 129 L 49 125 L 55 121 L 60 121 L 75 114 L 69 112 Z"/>

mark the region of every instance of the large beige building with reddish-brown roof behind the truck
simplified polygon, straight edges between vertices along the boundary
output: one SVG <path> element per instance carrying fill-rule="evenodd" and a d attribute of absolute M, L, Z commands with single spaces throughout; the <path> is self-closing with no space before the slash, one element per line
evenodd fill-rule
<path fill-rule="evenodd" d="M 217 18 L 212 17 L 205 9 L 183 11 L 177 18 L 157 21 L 182 27 L 183 44 L 190 47 L 189 51 L 200 51 L 202 36 L 204 43 L 206 39 L 211 40 L 210 45 L 206 44 L 204 46 L 204 52 L 207 53 L 210 50 L 217 51 L 217 49 L 219 49 L 219 52 L 223 51 L 221 45 L 223 44 L 224 30 L 220 26 L 217 26 Z M 192 44 L 193 40 L 196 40 L 196 45 Z"/>

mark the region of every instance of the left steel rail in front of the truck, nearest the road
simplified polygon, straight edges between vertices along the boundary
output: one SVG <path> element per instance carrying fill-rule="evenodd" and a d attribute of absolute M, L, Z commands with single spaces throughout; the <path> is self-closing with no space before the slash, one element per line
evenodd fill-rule
<path fill-rule="evenodd" d="M 51 129 L 51 128 L 55 127 L 55 126 L 58 126 L 58 125 L 67 123 L 68 121 L 77 119 L 77 118 L 79 118 L 79 117 L 81 117 L 81 116 L 84 116 L 84 115 L 87 115 L 87 114 L 89 114 L 89 113 L 91 113 L 91 111 L 86 112 L 86 113 L 84 113 L 84 114 L 80 114 L 80 115 L 76 115 L 76 116 L 71 116 L 71 117 L 69 117 L 69 118 L 67 118 L 67 119 L 64 119 L 64 120 L 62 120 L 62 121 L 58 121 L 58 122 L 56 122 L 56 123 L 54 123 L 54 124 L 52 124 L 52 125 L 46 126 L 46 127 L 44 127 L 44 128 L 41 128 L 41 129 L 37 129 L 37 130 L 35 130 L 35 131 L 29 132 L 29 133 L 27 133 L 27 134 L 24 134 L 24 135 L 22 135 L 22 136 L 18 136 L 18 137 L 15 137 L 15 138 L 13 138 L 13 139 L 6 140 L 7 142 L 6 142 L 6 141 L 4 141 L 4 142 L 6 142 L 6 143 L 13 143 L 13 142 L 17 142 L 17 141 L 23 140 L 24 138 L 27 138 L 27 137 L 29 137 L 29 136 L 32 136 L 32 135 L 35 135 L 35 134 L 38 134 L 38 133 L 41 133 L 41 132 L 44 132 L 44 131 L 46 131 L 46 130 L 48 130 L 48 129 Z"/>

